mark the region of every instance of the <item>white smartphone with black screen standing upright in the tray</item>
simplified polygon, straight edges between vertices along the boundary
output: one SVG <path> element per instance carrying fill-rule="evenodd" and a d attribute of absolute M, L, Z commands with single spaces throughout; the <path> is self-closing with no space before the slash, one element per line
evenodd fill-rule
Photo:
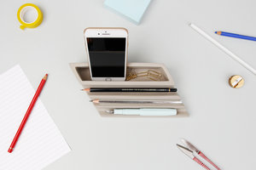
<path fill-rule="evenodd" d="M 86 28 L 85 48 L 93 81 L 125 81 L 128 31 L 125 28 Z"/>

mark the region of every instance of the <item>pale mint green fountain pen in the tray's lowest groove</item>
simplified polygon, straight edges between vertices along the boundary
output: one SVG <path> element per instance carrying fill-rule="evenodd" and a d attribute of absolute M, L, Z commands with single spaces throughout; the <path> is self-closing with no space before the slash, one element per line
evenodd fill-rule
<path fill-rule="evenodd" d="M 107 111 L 114 115 L 137 115 L 137 116 L 174 116 L 176 109 L 114 109 Z"/>

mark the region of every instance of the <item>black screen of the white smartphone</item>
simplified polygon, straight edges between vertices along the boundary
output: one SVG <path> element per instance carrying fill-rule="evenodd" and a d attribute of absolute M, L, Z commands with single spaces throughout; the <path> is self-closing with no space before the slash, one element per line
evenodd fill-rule
<path fill-rule="evenodd" d="M 92 77 L 125 77 L 125 37 L 88 37 Z"/>

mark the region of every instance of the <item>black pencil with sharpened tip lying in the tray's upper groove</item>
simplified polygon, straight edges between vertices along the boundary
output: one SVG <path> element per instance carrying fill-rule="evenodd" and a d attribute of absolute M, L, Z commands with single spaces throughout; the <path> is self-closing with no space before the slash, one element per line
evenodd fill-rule
<path fill-rule="evenodd" d="M 85 92 L 177 92 L 177 88 L 84 88 Z"/>

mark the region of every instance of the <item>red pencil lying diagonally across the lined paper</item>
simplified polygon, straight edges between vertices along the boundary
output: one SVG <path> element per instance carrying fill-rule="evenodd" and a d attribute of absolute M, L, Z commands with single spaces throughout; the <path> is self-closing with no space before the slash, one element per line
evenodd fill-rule
<path fill-rule="evenodd" d="M 22 132 L 22 129 L 23 129 L 23 127 L 24 127 L 25 124 L 26 124 L 26 120 L 27 120 L 28 116 L 30 115 L 30 113 L 31 113 L 31 111 L 32 111 L 32 109 L 33 109 L 33 106 L 34 106 L 35 103 L 37 102 L 37 99 L 38 99 L 39 94 L 41 93 L 42 89 L 44 88 L 44 83 L 46 82 L 47 77 L 48 77 L 48 74 L 46 74 L 46 75 L 44 76 L 44 78 L 42 79 L 42 81 L 40 82 L 40 84 L 39 84 L 39 86 L 38 86 L 38 90 L 37 90 L 36 94 L 34 95 L 32 101 L 31 101 L 31 103 L 30 103 L 30 105 L 29 105 L 29 107 L 28 107 L 28 109 L 27 109 L 27 111 L 26 111 L 26 114 L 25 114 L 25 116 L 23 117 L 22 122 L 20 123 L 20 127 L 19 127 L 17 133 L 15 134 L 15 138 L 13 139 L 12 144 L 10 144 L 10 146 L 9 146 L 9 150 L 8 150 L 9 153 L 11 153 L 11 152 L 14 150 L 15 144 L 17 143 L 17 141 L 18 141 L 18 139 L 19 139 L 19 137 L 20 137 L 20 133 Z"/>

